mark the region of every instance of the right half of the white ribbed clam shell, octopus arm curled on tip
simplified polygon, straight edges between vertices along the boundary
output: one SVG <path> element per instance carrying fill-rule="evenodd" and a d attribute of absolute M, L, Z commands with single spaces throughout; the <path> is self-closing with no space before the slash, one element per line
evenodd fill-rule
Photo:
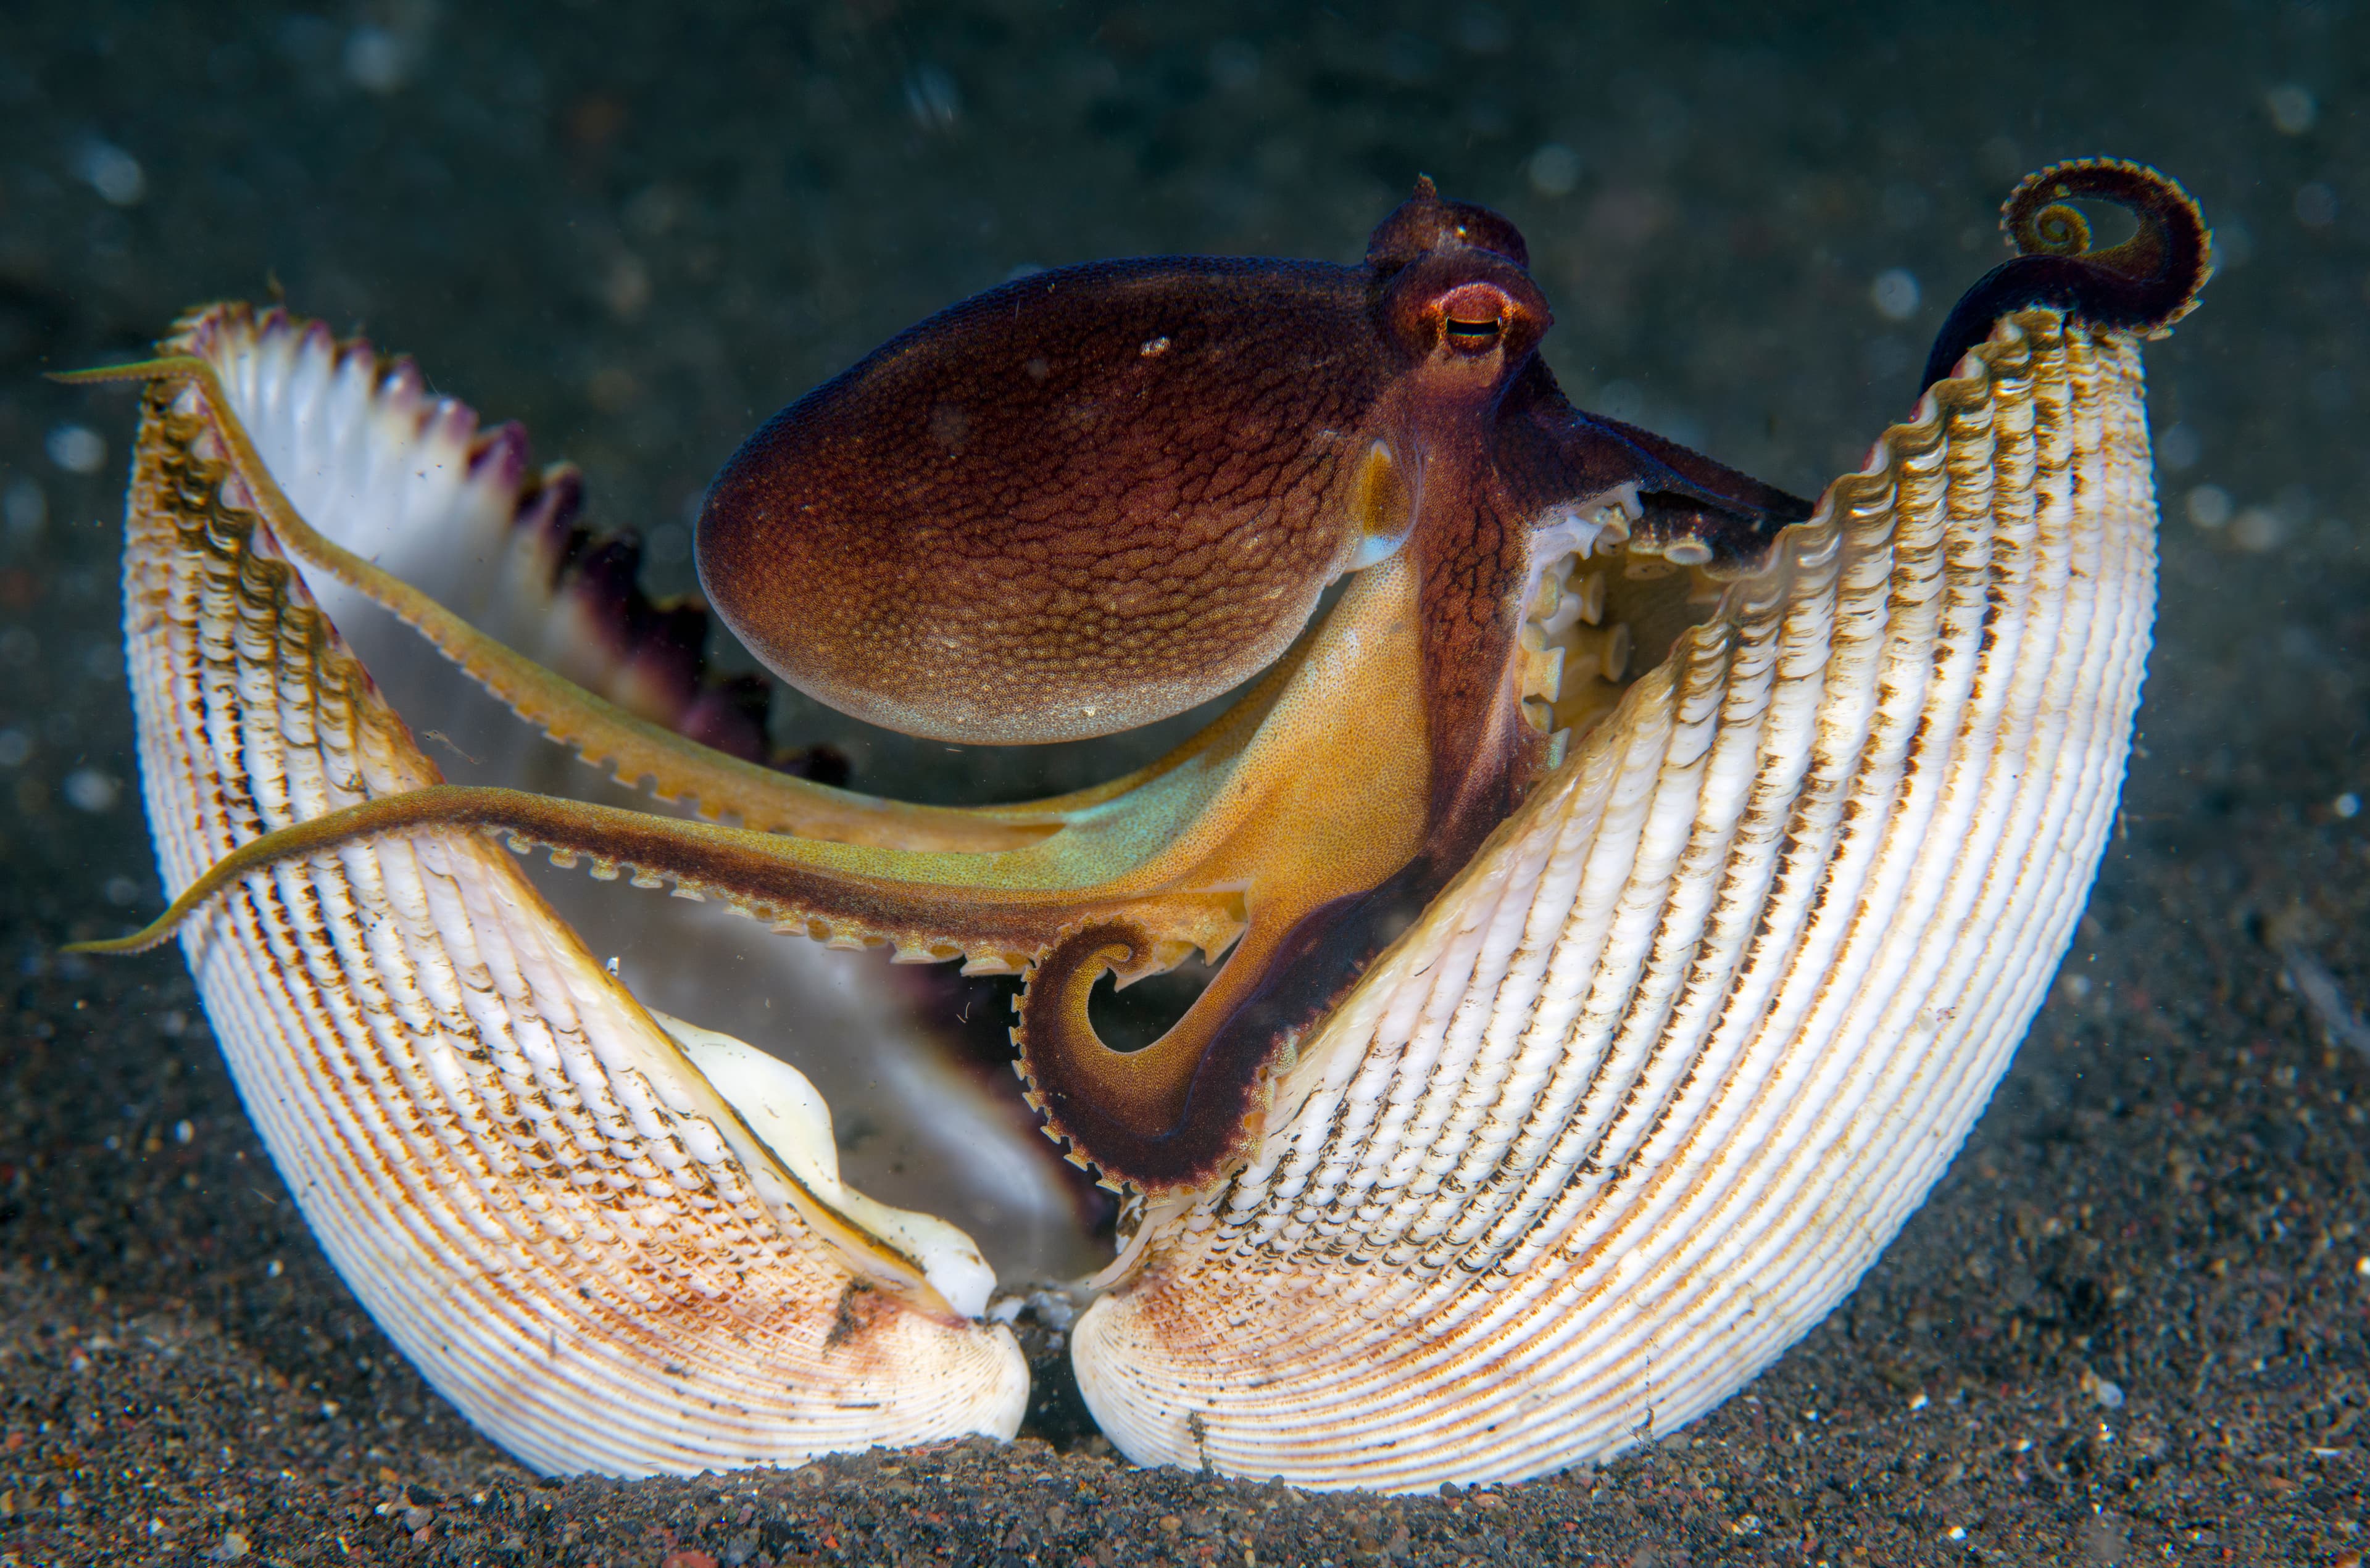
<path fill-rule="evenodd" d="M 1379 1490 L 1668 1433 L 1877 1258 L 2114 820 L 2140 358 L 2022 313 L 1642 677 L 1157 1215 L 1074 1360 L 1138 1461 Z"/>

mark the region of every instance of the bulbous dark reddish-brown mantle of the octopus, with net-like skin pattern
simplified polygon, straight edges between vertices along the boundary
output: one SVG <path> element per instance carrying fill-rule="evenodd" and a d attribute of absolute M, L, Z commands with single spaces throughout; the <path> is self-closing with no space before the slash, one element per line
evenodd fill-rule
<path fill-rule="evenodd" d="M 1339 573 L 1370 339 L 1351 268 L 1024 277 L 751 436 L 709 493 L 702 583 L 784 680 L 893 730 L 1166 718 L 1273 663 Z"/>

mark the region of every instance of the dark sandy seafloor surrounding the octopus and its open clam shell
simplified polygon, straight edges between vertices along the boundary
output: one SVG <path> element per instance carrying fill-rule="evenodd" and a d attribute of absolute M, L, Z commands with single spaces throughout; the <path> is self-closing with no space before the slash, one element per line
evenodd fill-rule
<path fill-rule="evenodd" d="M 0 12 L 0 1563 L 2358 1561 L 2370 17 L 1642 12 Z M 1010 1447 L 538 1480 L 322 1262 L 180 959 L 55 955 L 156 881 L 114 587 L 133 403 L 38 374 L 190 303 L 284 289 L 415 353 L 680 583 L 737 438 L 905 322 L 1021 265 L 1351 261 L 1429 171 L 1529 232 L 1581 403 L 1815 493 L 1905 410 L 2012 180 L 2093 152 L 2185 180 L 2223 256 L 2150 351 L 2164 609 L 2124 827 L 1927 1206 L 1647 1452 L 1313 1497 L 1138 1471 L 1055 1412 Z"/>

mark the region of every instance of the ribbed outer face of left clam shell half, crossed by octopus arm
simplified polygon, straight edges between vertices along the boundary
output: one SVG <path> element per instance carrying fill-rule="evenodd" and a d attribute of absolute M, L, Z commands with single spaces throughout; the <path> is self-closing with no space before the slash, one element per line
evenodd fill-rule
<path fill-rule="evenodd" d="M 230 448 L 204 384 L 149 393 L 126 654 L 171 888 L 268 829 L 436 782 Z M 408 521 L 479 488 L 419 486 Z M 988 1289 L 969 1241 L 839 1189 L 796 1075 L 668 1033 L 498 843 L 427 831 L 282 865 L 182 945 L 329 1260 L 524 1461 L 690 1473 L 1017 1431 L 1026 1362 L 965 1317 Z M 882 1255 L 915 1262 L 936 1307 L 901 1305 Z"/>

